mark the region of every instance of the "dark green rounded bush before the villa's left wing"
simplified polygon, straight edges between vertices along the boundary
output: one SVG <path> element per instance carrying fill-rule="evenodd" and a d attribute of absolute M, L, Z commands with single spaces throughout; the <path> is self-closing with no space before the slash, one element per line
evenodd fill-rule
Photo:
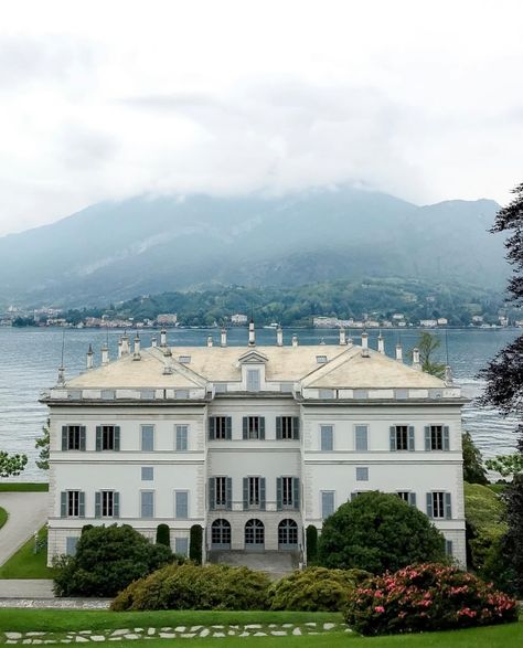
<path fill-rule="evenodd" d="M 54 562 L 54 591 L 58 596 L 115 596 L 172 559 L 167 546 L 151 544 L 127 524 L 84 528 L 76 555 Z"/>

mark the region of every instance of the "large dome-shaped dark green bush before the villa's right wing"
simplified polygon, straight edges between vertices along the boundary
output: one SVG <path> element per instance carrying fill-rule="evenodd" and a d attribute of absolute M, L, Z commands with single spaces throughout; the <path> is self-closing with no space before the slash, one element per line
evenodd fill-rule
<path fill-rule="evenodd" d="M 427 516 L 396 495 L 364 492 L 323 522 L 318 562 L 381 574 L 408 564 L 445 561 L 445 540 Z"/>

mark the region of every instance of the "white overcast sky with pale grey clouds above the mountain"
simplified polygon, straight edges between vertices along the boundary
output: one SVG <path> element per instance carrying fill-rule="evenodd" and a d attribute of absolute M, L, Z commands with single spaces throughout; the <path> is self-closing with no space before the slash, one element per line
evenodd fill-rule
<path fill-rule="evenodd" d="M 523 4 L 17 0 L 0 10 L 0 234 L 143 192 L 523 181 Z"/>

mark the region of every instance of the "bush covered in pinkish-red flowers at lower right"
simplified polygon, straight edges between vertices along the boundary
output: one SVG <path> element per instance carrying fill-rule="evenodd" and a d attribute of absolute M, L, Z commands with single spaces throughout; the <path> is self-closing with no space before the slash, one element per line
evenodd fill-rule
<path fill-rule="evenodd" d="M 457 567 L 424 564 L 370 578 L 344 616 L 362 635 L 388 635 L 514 622 L 517 603 Z"/>

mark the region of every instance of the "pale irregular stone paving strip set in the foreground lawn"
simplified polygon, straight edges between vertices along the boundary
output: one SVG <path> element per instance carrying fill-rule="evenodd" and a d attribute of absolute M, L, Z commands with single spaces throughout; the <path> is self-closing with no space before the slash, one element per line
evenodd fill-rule
<path fill-rule="evenodd" d="M 0 633 L 0 644 L 100 644 L 137 639 L 192 639 L 194 637 L 290 637 L 320 635 L 332 631 L 351 633 L 344 624 L 245 624 L 213 626 L 173 626 L 162 628 L 120 628 L 117 630 L 79 630 L 74 633 Z"/>

